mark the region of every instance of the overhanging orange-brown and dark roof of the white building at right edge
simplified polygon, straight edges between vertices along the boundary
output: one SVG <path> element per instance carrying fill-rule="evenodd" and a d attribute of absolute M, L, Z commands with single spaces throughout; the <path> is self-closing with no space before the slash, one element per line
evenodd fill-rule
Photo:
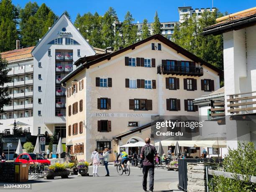
<path fill-rule="evenodd" d="M 201 35 L 219 35 L 228 31 L 256 25 L 256 7 L 217 18 L 216 21 L 220 22 L 204 28 Z"/>

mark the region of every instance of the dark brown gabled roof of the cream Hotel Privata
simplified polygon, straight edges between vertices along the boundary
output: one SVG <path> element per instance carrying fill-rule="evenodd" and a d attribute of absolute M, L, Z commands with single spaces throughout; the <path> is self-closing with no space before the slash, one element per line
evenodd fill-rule
<path fill-rule="evenodd" d="M 111 57 L 113 57 L 113 56 L 116 56 L 116 55 L 118 55 L 118 54 L 121 54 L 121 53 L 123 53 L 123 52 L 125 52 L 125 51 L 128 51 L 128 50 L 130 50 L 130 49 L 135 49 L 136 46 L 139 46 L 139 45 L 141 45 L 141 44 L 144 44 L 144 43 L 146 43 L 146 42 L 148 42 L 148 41 L 151 41 L 151 40 L 153 40 L 153 39 L 157 39 L 157 40 L 161 41 L 162 43 L 164 43 L 164 44 L 166 44 L 167 46 L 171 47 L 172 49 L 176 50 L 177 53 L 180 53 L 180 54 L 182 54 L 182 55 L 188 57 L 188 58 L 191 59 L 192 61 L 195 61 L 195 62 L 197 62 L 197 63 L 200 63 L 200 64 L 202 64 L 202 65 L 205 65 L 205 66 L 209 67 L 210 69 L 213 69 L 214 71 L 218 72 L 218 74 L 220 74 L 220 75 L 223 74 L 223 71 L 222 71 L 222 70 L 220 70 L 220 69 L 218 69 L 217 67 L 213 66 L 212 64 L 209 64 L 209 63 L 207 63 L 206 61 L 200 59 L 198 56 L 195 56 L 194 54 L 192 54 L 192 53 L 190 53 L 189 51 L 183 49 L 181 46 L 178 46 L 177 44 L 173 43 L 172 41 L 168 40 L 167 38 L 165 38 L 164 36 L 162 36 L 162 35 L 160 35 L 160 34 L 156 34 L 156 35 L 150 36 L 150 37 L 145 38 L 145 39 L 143 39 L 143 40 L 141 40 L 141 41 L 138 41 L 138 42 L 135 43 L 135 44 L 132 44 L 132 45 L 130 45 L 130 46 L 127 46 L 127 47 L 125 47 L 125 48 L 123 48 L 123 49 L 120 49 L 120 50 L 118 50 L 118 51 L 114 51 L 114 52 L 112 52 L 112 53 L 110 53 L 110 54 L 106 54 L 106 55 L 103 55 L 103 54 L 102 54 L 102 55 L 99 55 L 99 56 L 100 56 L 99 58 L 97 58 L 97 59 L 95 59 L 95 60 L 93 60 L 93 61 L 90 61 L 90 62 L 85 62 L 84 64 L 82 64 L 82 67 L 79 67 L 79 70 L 82 70 L 82 69 L 84 69 L 84 68 L 89 69 L 90 66 L 92 66 L 92 65 L 94 65 L 94 64 L 97 64 L 97 63 L 99 63 L 99 62 L 101 62 L 101 61 L 110 60 Z M 77 71 L 77 72 L 75 72 L 75 71 Z M 77 74 L 78 72 L 80 72 L 80 71 L 78 71 L 77 69 L 76 69 L 75 71 L 74 71 L 73 75 L 74 75 L 74 74 Z M 66 83 L 67 80 L 70 79 L 71 77 L 72 77 L 72 74 L 68 74 L 66 77 L 64 77 L 64 78 L 62 79 L 61 82 L 62 82 L 62 83 Z"/>

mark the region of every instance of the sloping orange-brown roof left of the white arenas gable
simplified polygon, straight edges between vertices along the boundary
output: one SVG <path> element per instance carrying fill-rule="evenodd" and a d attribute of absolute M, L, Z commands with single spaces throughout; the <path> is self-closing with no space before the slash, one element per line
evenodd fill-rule
<path fill-rule="evenodd" d="M 9 63 L 13 63 L 16 61 L 24 61 L 33 59 L 31 51 L 34 47 L 27 47 L 23 49 L 15 49 L 12 51 L 6 51 L 0 53 L 3 59 L 6 59 Z"/>

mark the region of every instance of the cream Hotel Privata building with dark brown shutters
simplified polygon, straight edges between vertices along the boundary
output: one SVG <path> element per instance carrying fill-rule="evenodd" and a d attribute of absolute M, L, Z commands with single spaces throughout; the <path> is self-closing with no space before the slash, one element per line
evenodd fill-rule
<path fill-rule="evenodd" d="M 156 49 L 157 48 L 157 49 Z M 75 62 L 67 88 L 67 152 L 151 137 L 151 116 L 198 115 L 193 100 L 219 89 L 222 71 L 156 34 L 110 54 Z"/>

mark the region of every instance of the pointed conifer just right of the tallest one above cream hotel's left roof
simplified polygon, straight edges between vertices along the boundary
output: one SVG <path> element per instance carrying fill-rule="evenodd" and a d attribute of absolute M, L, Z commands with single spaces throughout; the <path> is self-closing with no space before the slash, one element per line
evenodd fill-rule
<path fill-rule="evenodd" d="M 121 26 L 122 36 L 123 36 L 123 46 L 129 46 L 136 43 L 137 41 L 137 31 L 136 25 L 133 25 L 134 18 L 129 11 L 125 15 L 125 19 Z"/>

